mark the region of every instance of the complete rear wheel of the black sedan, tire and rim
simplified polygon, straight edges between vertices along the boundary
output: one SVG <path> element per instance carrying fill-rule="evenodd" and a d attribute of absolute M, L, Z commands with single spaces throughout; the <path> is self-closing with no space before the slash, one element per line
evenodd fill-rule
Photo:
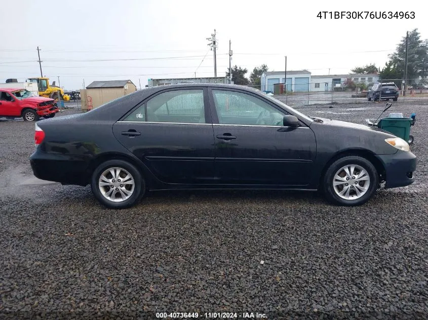
<path fill-rule="evenodd" d="M 134 181 L 134 186 L 132 187 L 131 184 L 120 184 L 120 182 L 124 181 L 119 181 L 117 177 L 113 179 L 112 174 L 109 173 L 109 169 L 112 169 L 114 174 L 118 174 L 118 169 L 121 169 L 119 174 L 122 178 L 125 178 L 128 174 L 131 175 L 131 178 Z M 101 175 L 104 176 L 104 179 L 101 179 Z M 113 190 L 112 193 L 110 192 L 110 198 L 113 198 L 115 201 L 106 198 L 106 196 L 109 196 L 111 187 L 99 186 L 100 182 L 105 184 L 107 181 L 109 184 L 112 184 L 111 186 L 114 186 L 113 189 L 115 190 Z M 127 179 L 125 182 L 129 181 L 130 180 Z M 121 188 L 120 186 L 123 187 Z M 145 193 L 145 181 L 140 171 L 131 163 L 124 160 L 108 160 L 101 163 L 94 170 L 91 178 L 91 189 L 95 198 L 105 207 L 110 209 L 124 209 L 134 206 L 141 200 Z M 123 197 L 123 195 L 126 196 L 126 193 L 121 192 L 121 190 L 124 189 L 131 192 L 128 198 Z M 106 196 L 103 195 L 101 190 L 106 194 Z"/>

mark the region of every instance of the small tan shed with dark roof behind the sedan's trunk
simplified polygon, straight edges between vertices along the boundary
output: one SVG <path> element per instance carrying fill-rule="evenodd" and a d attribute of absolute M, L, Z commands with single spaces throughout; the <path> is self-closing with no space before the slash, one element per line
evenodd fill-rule
<path fill-rule="evenodd" d="M 114 99 L 132 94 L 137 90 L 137 87 L 131 80 L 111 80 L 111 81 L 94 81 L 86 87 L 82 96 L 87 102 L 92 102 L 92 108 L 97 108 Z M 92 100 L 92 101 L 91 101 Z M 82 104 L 82 109 L 85 106 Z M 86 109 L 87 106 L 86 106 Z"/>

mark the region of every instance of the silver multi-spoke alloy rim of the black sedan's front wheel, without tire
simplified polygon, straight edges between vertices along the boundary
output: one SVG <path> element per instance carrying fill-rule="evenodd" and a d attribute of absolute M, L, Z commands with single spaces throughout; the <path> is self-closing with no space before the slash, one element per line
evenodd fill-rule
<path fill-rule="evenodd" d="M 364 196 L 370 187 L 370 176 L 366 169 L 348 164 L 336 171 L 333 177 L 335 193 L 345 200 L 356 200 Z"/>

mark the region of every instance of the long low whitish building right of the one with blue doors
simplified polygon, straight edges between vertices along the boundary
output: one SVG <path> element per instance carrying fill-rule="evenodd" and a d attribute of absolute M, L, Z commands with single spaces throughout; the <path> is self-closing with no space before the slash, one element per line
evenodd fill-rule
<path fill-rule="evenodd" d="M 310 91 L 331 91 L 333 87 L 341 88 L 345 81 L 364 82 L 370 87 L 372 83 L 378 80 L 379 75 L 377 73 L 312 75 L 310 77 Z"/>

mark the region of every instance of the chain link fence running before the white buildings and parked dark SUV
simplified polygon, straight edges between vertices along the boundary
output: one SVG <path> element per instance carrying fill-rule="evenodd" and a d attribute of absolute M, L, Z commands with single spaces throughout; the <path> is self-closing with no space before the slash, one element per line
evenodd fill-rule
<path fill-rule="evenodd" d="M 380 89 L 379 83 L 382 83 Z M 378 82 L 355 81 L 351 78 L 340 81 L 317 81 L 313 78 L 310 83 L 288 84 L 285 90 L 284 83 L 264 85 L 248 85 L 273 94 L 275 98 L 290 106 L 331 104 L 331 103 L 366 103 L 368 101 L 392 100 L 400 102 L 428 102 L 428 82 L 420 79 L 408 79 L 404 89 L 402 79 L 382 79 Z M 385 85 L 391 83 L 391 85 Z M 417 83 L 417 84 L 415 84 Z M 398 92 L 398 95 L 397 95 Z"/>

